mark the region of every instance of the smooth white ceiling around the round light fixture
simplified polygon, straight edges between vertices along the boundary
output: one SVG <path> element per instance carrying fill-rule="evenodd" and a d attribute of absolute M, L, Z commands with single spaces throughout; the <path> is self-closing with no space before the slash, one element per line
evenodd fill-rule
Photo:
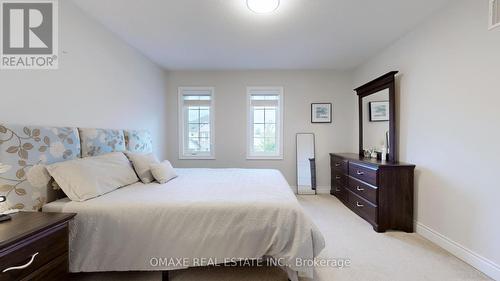
<path fill-rule="evenodd" d="M 450 0 L 74 0 L 170 70 L 351 69 Z"/>

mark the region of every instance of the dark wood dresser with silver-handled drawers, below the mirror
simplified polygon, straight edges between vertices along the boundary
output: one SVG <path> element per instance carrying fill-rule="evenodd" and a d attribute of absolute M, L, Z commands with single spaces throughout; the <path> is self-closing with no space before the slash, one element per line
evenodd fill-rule
<path fill-rule="evenodd" d="M 330 153 L 331 191 L 377 232 L 413 232 L 415 165 Z"/>

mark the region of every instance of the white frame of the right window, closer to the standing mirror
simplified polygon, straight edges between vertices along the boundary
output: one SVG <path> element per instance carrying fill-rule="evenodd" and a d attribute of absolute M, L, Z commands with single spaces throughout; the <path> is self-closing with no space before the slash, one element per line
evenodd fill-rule
<path fill-rule="evenodd" d="M 279 106 L 277 114 L 279 118 L 279 122 L 276 122 L 277 133 L 276 144 L 278 145 L 278 153 L 276 155 L 266 155 L 252 152 L 253 146 L 253 111 L 251 107 L 251 97 L 252 93 L 259 91 L 273 91 L 278 92 L 279 95 Z M 283 95 L 283 87 L 247 87 L 247 160 L 283 160 L 283 131 L 284 131 L 284 95 Z"/>

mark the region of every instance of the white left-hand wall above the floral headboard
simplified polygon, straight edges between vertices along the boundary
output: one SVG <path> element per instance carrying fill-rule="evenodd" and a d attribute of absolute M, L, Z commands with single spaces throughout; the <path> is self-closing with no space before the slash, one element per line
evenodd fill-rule
<path fill-rule="evenodd" d="M 59 1 L 58 70 L 0 70 L 0 122 L 146 128 L 165 155 L 164 71 Z"/>

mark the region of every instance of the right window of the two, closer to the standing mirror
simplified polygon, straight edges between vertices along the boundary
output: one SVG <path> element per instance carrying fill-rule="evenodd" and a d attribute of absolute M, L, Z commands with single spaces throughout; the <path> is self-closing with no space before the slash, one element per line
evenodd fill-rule
<path fill-rule="evenodd" d="M 283 88 L 247 89 L 247 159 L 283 159 Z"/>

